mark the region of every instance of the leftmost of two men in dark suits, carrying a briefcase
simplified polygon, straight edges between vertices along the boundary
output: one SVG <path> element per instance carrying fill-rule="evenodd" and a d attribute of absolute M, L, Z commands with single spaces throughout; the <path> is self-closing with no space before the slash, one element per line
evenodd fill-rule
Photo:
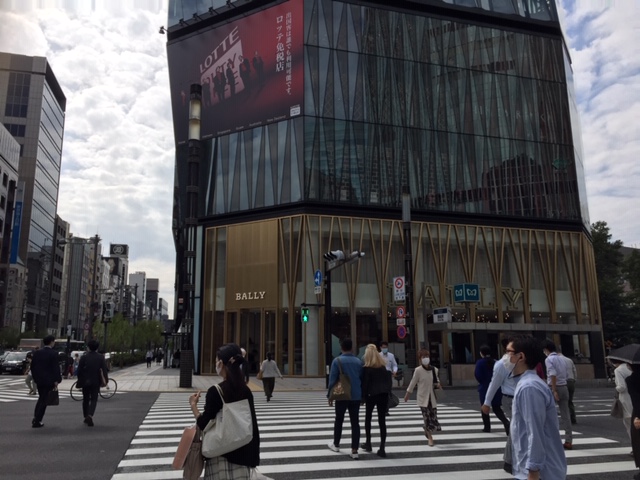
<path fill-rule="evenodd" d="M 58 365 L 58 352 L 53 349 L 55 337 L 48 335 L 44 337 L 44 348 L 36 350 L 31 360 L 31 375 L 38 388 L 38 401 L 33 412 L 31 426 L 33 428 L 44 427 L 42 419 L 47 410 L 47 397 L 49 392 L 57 388 L 62 381 L 60 366 Z"/>

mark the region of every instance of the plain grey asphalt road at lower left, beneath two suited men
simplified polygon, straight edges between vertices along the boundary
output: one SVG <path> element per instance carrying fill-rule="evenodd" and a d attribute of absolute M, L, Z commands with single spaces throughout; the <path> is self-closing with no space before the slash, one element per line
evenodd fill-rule
<path fill-rule="evenodd" d="M 100 398 L 95 426 L 83 423 L 82 402 L 47 407 L 43 428 L 31 428 L 35 402 L 0 406 L 0 478 L 110 480 L 157 393 Z"/>

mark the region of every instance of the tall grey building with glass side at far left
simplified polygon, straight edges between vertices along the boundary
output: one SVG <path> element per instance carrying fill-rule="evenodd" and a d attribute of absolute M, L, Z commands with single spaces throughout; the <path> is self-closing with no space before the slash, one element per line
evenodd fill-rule
<path fill-rule="evenodd" d="M 58 332 L 60 291 L 52 255 L 62 163 L 66 97 L 44 57 L 0 53 L 0 121 L 20 144 L 20 218 L 11 264 L 27 266 L 23 320 L 33 331 Z"/>

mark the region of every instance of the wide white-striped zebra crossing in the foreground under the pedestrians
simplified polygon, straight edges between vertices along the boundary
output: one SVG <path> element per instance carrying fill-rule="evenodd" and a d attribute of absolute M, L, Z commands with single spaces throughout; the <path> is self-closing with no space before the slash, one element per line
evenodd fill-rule
<path fill-rule="evenodd" d="M 379 432 L 374 412 L 373 452 L 349 457 L 350 428 L 345 418 L 341 452 L 327 448 L 333 439 L 334 409 L 322 392 L 276 392 L 267 403 L 255 395 L 260 428 L 260 473 L 274 480 L 474 480 L 513 478 L 502 470 L 506 435 L 492 416 L 492 433 L 482 432 L 478 410 L 446 403 L 438 406 L 442 432 L 428 447 L 415 401 L 404 403 L 387 417 L 387 458 L 375 452 Z M 608 412 L 594 411 L 606 415 Z M 180 479 L 171 463 L 184 427 L 193 424 L 184 393 L 163 393 L 149 410 L 112 480 Z M 360 410 L 364 441 L 364 408 Z M 577 430 L 577 431 L 576 431 Z M 604 437 L 589 437 L 574 429 L 574 449 L 567 451 L 569 479 L 598 478 L 604 472 L 637 472 L 630 448 Z M 626 476 L 625 475 L 625 476 Z"/>

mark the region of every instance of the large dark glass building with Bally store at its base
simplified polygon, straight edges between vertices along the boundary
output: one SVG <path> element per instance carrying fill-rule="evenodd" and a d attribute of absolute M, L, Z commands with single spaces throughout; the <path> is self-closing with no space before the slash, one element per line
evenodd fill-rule
<path fill-rule="evenodd" d="M 579 353 L 582 378 L 604 374 L 552 0 L 220 3 L 170 2 L 167 32 L 176 313 L 193 319 L 196 371 L 215 372 L 217 347 L 235 341 L 253 368 L 273 351 L 287 374 L 323 375 L 328 318 L 332 354 L 345 336 L 360 350 L 387 340 L 412 365 L 428 346 L 452 384 L 475 381 L 480 345 L 501 354 L 523 332 Z M 403 191 L 408 336 L 394 289 L 408 271 Z M 314 277 L 331 250 L 365 256 L 332 271 L 327 316 Z M 455 292 L 465 283 L 471 302 Z"/>

